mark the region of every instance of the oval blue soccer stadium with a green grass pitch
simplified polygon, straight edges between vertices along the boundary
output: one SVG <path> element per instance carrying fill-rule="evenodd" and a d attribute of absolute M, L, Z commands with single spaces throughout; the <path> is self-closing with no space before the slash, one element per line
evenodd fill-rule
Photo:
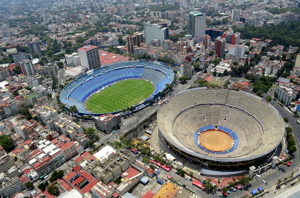
<path fill-rule="evenodd" d="M 173 71 L 155 61 L 126 61 L 88 71 L 67 84 L 60 101 L 67 110 L 75 105 L 80 116 L 121 113 L 127 107 L 142 109 L 161 97 L 172 84 Z"/>

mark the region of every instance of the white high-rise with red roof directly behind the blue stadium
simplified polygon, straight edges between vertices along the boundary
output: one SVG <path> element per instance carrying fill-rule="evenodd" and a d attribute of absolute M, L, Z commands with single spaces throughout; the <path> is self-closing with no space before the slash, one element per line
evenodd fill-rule
<path fill-rule="evenodd" d="M 87 70 L 101 67 L 98 47 L 94 45 L 85 45 L 78 49 L 81 66 Z"/>

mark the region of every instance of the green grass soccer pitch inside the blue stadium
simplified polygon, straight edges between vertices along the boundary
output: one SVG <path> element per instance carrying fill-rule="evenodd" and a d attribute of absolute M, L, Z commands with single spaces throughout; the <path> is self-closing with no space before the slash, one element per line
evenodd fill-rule
<path fill-rule="evenodd" d="M 122 80 L 95 93 L 85 103 L 86 109 L 94 113 L 115 112 L 148 98 L 155 86 L 140 79 Z"/>

